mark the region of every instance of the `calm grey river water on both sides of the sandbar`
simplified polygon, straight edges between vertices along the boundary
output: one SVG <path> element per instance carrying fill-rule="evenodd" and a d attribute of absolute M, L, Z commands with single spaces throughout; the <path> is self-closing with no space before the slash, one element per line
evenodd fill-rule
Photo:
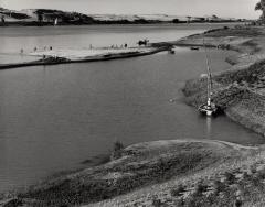
<path fill-rule="evenodd" d="M 30 52 L 177 40 L 213 25 L 1 28 L 0 62 Z M 234 54 L 210 51 L 213 72 L 230 67 Z M 205 119 L 183 102 L 184 80 L 205 73 L 204 53 L 176 48 L 174 55 L 0 72 L 0 190 L 26 186 L 52 173 L 80 167 L 106 154 L 116 140 L 126 145 L 169 139 L 211 139 L 242 144 L 262 137 L 226 117 Z M 170 102 L 174 99 L 174 102 Z"/>

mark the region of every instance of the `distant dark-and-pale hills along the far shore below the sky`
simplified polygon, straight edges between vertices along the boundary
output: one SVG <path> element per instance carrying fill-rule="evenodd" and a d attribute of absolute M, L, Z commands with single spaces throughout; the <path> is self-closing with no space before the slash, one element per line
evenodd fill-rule
<path fill-rule="evenodd" d="M 50 9 L 25 9 L 21 11 L 0 8 L 0 25 L 52 25 L 57 24 L 134 24 L 134 23 L 183 23 L 183 22 L 236 22 L 232 18 L 179 17 L 167 14 L 83 14 Z"/>

